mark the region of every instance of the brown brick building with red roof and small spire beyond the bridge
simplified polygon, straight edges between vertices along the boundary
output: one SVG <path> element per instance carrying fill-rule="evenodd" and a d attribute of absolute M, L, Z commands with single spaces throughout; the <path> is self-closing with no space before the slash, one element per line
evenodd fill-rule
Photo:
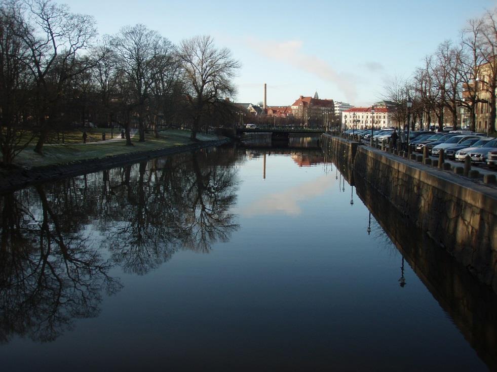
<path fill-rule="evenodd" d="M 326 125 L 335 114 L 332 99 L 319 99 L 318 92 L 314 97 L 300 96 L 291 106 L 292 114 L 307 126 Z"/>

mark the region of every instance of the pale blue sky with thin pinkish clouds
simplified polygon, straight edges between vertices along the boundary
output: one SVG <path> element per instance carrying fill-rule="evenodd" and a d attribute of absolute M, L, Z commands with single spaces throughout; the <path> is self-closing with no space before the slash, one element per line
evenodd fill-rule
<path fill-rule="evenodd" d="M 412 76 L 444 40 L 497 0 L 159 1 L 66 0 L 95 17 L 100 35 L 142 23 L 171 42 L 211 35 L 242 67 L 237 102 L 291 105 L 300 95 L 369 106 Z"/>

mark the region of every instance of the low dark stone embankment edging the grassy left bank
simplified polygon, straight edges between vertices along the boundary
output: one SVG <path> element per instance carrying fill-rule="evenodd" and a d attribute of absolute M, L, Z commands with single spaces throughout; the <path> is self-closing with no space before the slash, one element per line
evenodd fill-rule
<path fill-rule="evenodd" d="M 195 151 L 206 147 L 221 146 L 231 143 L 230 138 L 217 141 L 204 141 L 190 145 L 174 146 L 144 152 L 132 152 L 107 156 L 105 158 L 73 161 L 58 166 L 36 167 L 26 170 L 12 170 L 4 172 L 0 177 L 0 193 L 11 192 L 27 185 L 54 181 L 66 177 L 80 176 L 83 174 L 97 172 L 104 169 L 120 167 L 125 164 L 135 163 L 187 151 Z"/>

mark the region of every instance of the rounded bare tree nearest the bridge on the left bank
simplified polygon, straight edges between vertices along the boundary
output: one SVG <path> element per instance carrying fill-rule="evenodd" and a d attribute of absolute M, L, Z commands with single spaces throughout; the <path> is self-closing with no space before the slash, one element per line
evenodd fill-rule
<path fill-rule="evenodd" d="M 179 47 L 179 59 L 192 116 L 191 138 L 196 140 L 208 106 L 235 95 L 232 79 L 240 63 L 232 58 L 230 50 L 215 48 L 214 40 L 205 35 L 183 40 Z"/>

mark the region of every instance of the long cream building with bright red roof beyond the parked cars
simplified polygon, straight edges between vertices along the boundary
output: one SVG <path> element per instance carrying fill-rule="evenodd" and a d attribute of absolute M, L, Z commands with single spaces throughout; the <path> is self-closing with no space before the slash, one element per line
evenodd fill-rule
<path fill-rule="evenodd" d="M 371 118 L 373 119 L 371 121 Z M 371 107 L 353 107 L 342 113 L 342 127 L 345 129 L 368 129 L 390 128 L 394 126 L 392 114 L 387 107 L 374 107 L 374 114 L 371 114 Z"/>

